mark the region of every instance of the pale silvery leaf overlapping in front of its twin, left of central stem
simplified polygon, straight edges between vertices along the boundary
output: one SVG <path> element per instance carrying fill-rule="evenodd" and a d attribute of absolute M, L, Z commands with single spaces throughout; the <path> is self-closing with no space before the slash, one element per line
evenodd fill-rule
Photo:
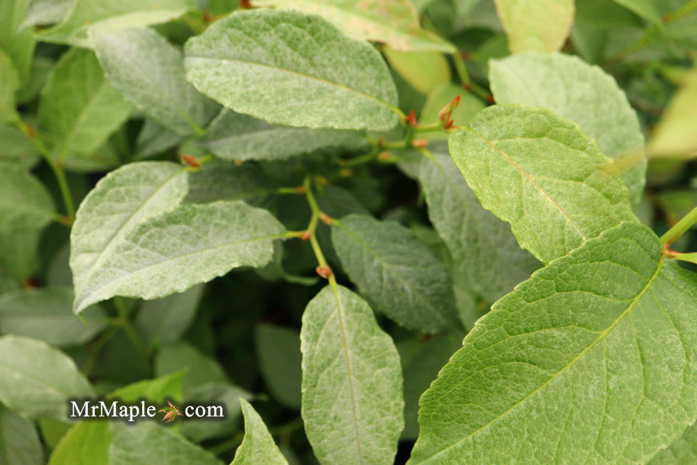
<path fill-rule="evenodd" d="M 75 309 L 114 296 L 169 296 L 239 266 L 263 266 L 282 237 L 278 220 L 243 201 L 179 206 L 126 234 L 77 294 Z"/>

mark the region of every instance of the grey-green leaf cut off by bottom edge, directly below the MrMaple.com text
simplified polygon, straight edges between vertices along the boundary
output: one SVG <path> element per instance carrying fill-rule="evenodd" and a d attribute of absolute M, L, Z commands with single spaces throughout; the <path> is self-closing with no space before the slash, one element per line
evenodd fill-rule
<path fill-rule="evenodd" d="M 210 452 L 155 422 L 112 422 L 109 427 L 109 465 L 220 465 Z"/>

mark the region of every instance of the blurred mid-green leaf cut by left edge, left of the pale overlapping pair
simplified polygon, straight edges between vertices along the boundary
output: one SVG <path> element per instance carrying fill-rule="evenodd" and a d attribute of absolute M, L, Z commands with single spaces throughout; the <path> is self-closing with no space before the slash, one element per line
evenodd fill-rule
<path fill-rule="evenodd" d="M 0 268 L 27 277 L 36 267 L 43 228 L 57 215 L 53 201 L 29 171 L 3 164 L 0 169 Z"/>

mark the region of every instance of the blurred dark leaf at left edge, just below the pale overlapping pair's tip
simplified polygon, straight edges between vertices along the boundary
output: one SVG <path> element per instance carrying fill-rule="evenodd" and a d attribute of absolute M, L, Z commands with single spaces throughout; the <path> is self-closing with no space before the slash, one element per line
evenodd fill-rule
<path fill-rule="evenodd" d="M 0 298 L 0 330 L 42 340 L 54 346 L 84 344 L 107 326 L 107 315 L 94 306 L 72 313 L 72 289 L 44 287 L 18 289 Z"/>

